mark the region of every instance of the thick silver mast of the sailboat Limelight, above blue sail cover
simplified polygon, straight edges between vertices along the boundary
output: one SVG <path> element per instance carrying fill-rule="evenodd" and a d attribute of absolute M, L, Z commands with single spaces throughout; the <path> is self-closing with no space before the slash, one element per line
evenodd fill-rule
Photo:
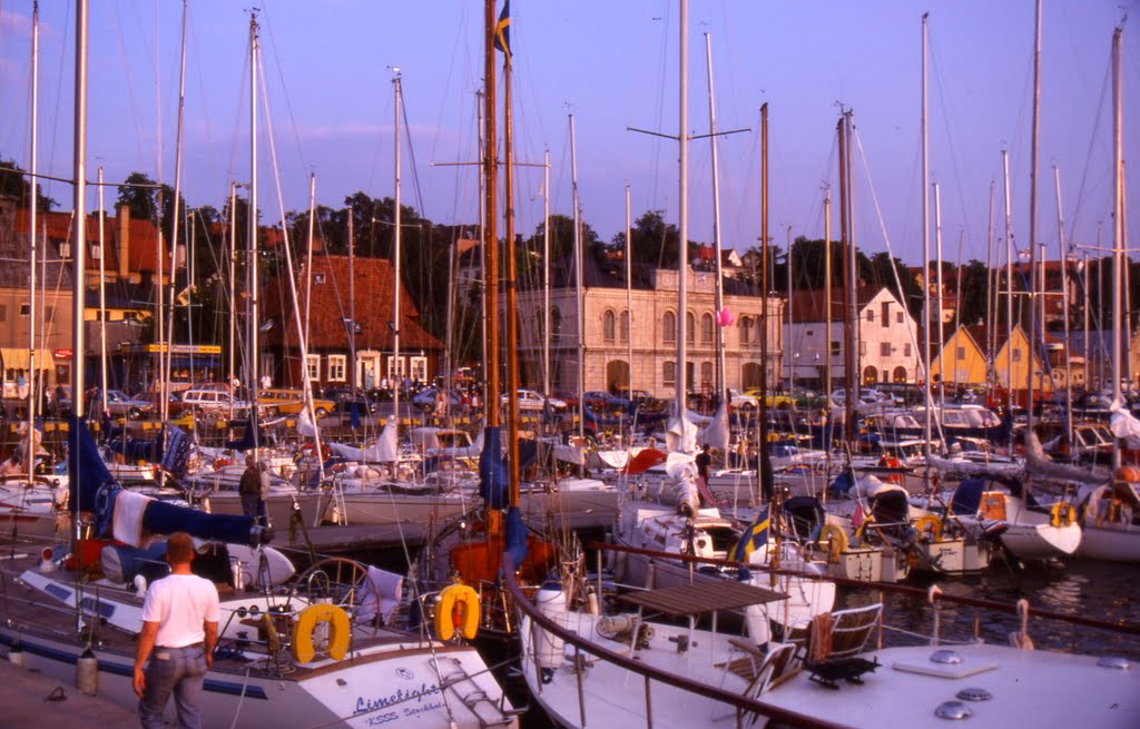
<path fill-rule="evenodd" d="M 72 188 L 72 199 L 74 215 L 72 218 L 72 424 L 68 429 L 68 443 L 71 452 L 74 453 L 72 465 L 76 467 L 72 473 L 78 474 L 80 448 L 79 428 L 83 419 L 84 408 L 84 377 L 83 366 L 87 360 L 87 342 L 84 341 L 83 327 L 83 270 L 87 254 L 87 23 L 88 8 L 87 0 L 79 0 L 75 3 L 75 142 L 73 149 L 74 187 Z M 75 488 L 75 494 L 82 484 Z M 78 508 L 78 506 L 72 507 Z M 80 519 L 73 519 L 74 535 L 80 536 L 82 524 Z"/>

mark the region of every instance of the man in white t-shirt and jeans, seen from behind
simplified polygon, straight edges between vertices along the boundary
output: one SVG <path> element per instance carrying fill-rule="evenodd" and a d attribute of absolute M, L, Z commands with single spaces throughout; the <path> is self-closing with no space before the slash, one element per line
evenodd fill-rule
<path fill-rule="evenodd" d="M 144 729 L 165 727 L 163 710 L 174 695 L 178 727 L 201 729 L 202 685 L 218 642 L 218 589 L 190 572 L 194 540 L 166 539 L 170 574 L 150 584 L 142 601 L 142 632 L 135 655 L 135 693 Z M 144 674 L 142 664 L 150 658 Z"/>

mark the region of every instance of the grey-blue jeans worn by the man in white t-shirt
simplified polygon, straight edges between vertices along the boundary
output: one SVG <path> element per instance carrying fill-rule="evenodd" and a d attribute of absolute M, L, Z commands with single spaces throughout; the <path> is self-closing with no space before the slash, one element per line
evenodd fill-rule
<path fill-rule="evenodd" d="M 150 653 L 146 667 L 146 688 L 139 701 L 142 729 L 160 729 L 166 722 L 163 708 L 174 695 L 180 729 L 202 729 L 202 683 L 206 674 L 206 656 L 202 644 L 185 648 L 160 648 Z"/>

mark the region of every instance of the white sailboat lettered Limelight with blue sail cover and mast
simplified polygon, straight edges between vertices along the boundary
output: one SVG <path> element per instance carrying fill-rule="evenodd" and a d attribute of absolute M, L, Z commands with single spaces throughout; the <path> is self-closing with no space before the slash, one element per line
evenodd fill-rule
<path fill-rule="evenodd" d="M 85 248 L 88 9 L 76 3 L 74 271 Z M 251 47 L 258 52 L 256 19 Z M 255 64 L 254 64 L 255 67 Z M 255 98 L 255 97 L 254 97 Z M 255 105 L 254 105 L 255 107 Z M 76 360 L 85 351 L 83 277 L 73 276 Z M 78 403 L 83 368 L 73 372 Z M 0 646 L 13 663 L 133 707 L 132 666 L 148 581 L 164 576 L 162 543 L 150 535 L 190 533 L 195 564 L 220 583 L 222 621 L 201 706 L 209 727 L 513 726 L 515 712 L 470 646 L 430 638 L 398 613 L 402 579 L 360 563 L 319 560 L 294 587 L 274 587 L 271 532 L 244 516 L 211 515 L 122 489 L 87 431 L 82 408 L 70 423 L 70 544 L 13 550 L 0 565 L 6 585 Z M 112 541 L 114 540 L 114 542 Z M 233 567 L 252 554 L 256 591 Z M 170 715 L 173 707 L 168 706 Z"/>

